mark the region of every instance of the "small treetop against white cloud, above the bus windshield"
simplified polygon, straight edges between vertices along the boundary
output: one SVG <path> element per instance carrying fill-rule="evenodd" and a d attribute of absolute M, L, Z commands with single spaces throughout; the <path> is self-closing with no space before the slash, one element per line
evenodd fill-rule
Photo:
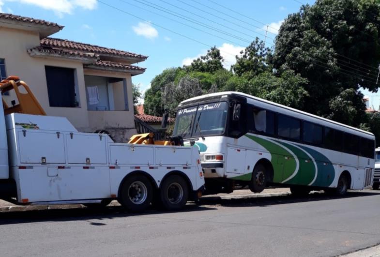
<path fill-rule="evenodd" d="M 198 57 L 189 66 L 184 66 L 187 71 L 198 71 L 198 72 L 216 72 L 223 68 L 223 57 L 220 55 L 220 51 L 216 46 L 211 47 L 207 50 L 207 54 Z"/>

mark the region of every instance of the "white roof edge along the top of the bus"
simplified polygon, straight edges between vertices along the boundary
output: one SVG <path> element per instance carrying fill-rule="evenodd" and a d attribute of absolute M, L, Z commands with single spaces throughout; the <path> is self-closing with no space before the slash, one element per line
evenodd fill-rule
<path fill-rule="evenodd" d="M 297 110 L 297 109 L 294 109 L 294 108 L 291 108 L 291 107 L 288 107 L 288 106 L 283 106 L 283 105 L 280 105 L 280 104 L 276 104 L 274 102 L 271 102 L 271 101 L 268 101 L 268 100 L 265 100 L 265 99 L 262 99 L 262 98 L 259 98 L 259 97 L 256 97 L 256 96 L 252 96 L 252 95 L 249 95 L 249 94 L 245 94 L 245 93 L 242 93 L 242 92 L 226 91 L 226 92 L 218 92 L 218 93 L 211 93 L 211 94 L 200 95 L 200 96 L 196 96 L 196 97 L 189 98 L 187 100 L 182 101 L 180 103 L 180 106 L 183 105 L 183 104 L 186 104 L 187 102 L 192 102 L 192 101 L 195 101 L 195 100 L 202 100 L 203 98 L 208 98 L 208 97 L 215 97 L 215 96 L 222 97 L 223 95 L 239 95 L 239 96 L 243 96 L 243 97 L 250 98 L 250 99 L 253 99 L 253 100 L 256 100 L 256 101 L 260 101 L 260 102 L 263 102 L 263 103 L 266 103 L 266 104 L 270 104 L 270 105 L 281 107 L 281 108 L 284 108 L 284 109 L 288 109 L 288 110 L 291 110 L 291 111 L 294 111 L 294 112 L 297 112 L 297 113 L 300 113 L 300 114 L 304 114 L 304 115 L 307 115 L 309 117 L 320 119 L 322 121 L 327 121 L 327 122 L 333 123 L 335 125 L 343 126 L 343 127 L 346 127 L 346 128 L 358 131 L 358 132 L 365 133 L 367 135 L 374 136 L 372 133 L 370 133 L 368 131 L 361 130 L 361 129 L 358 129 L 358 128 L 355 128 L 355 127 L 351 127 L 349 125 L 346 125 L 346 124 L 343 124 L 343 123 L 339 123 L 339 122 L 336 122 L 336 121 L 332 121 L 332 120 L 329 120 L 329 119 L 326 119 L 326 118 L 322 118 L 322 117 L 319 117 L 317 115 L 314 115 L 314 114 L 311 114 L 311 113 L 307 113 L 307 112 L 304 112 L 304 111 L 301 111 L 301 110 Z"/>

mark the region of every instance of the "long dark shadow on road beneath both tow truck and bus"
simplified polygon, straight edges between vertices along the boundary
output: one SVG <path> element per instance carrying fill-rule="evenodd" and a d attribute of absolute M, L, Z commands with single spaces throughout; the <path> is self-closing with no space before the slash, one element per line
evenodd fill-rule
<path fill-rule="evenodd" d="M 260 197 L 260 198 L 241 198 L 241 199 L 222 199 L 218 197 L 202 197 L 199 204 L 187 204 L 179 212 L 199 212 L 216 210 L 213 205 L 224 207 L 270 207 L 277 204 L 289 204 L 299 202 L 311 202 L 322 200 L 334 200 L 351 197 L 380 196 L 379 193 L 372 191 L 348 192 L 345 197 L 331 197 L 321 193 L 312 193 L 306 197 L 294 197 L 292 195 L 279 197 Z M 202 206 L 205 205 L 205 206 Z M 65 222 L 65 221 L 87 221 L 92 226 L 106 226 L 105 220 L 112 220 L 119 217 L 133 217 L 138 215 L 151 215 L 165 213 L 150 209 L 142 213 L 131 213 L 125 211 L 121 206 L 109 206 L 103 209 L 94 210 L 90 208 L 75 209 L 54 209 L 43 211 L 26 212 L 3 212 L 0 213 L 0 225 L 34 223 L 34 222 Z"/>

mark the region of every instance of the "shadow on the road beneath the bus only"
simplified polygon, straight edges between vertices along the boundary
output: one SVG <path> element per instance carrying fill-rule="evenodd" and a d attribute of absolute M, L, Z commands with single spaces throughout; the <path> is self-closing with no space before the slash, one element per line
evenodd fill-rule
<path fill-rule="evenodd" d="M 222 199 L 218 197 L 202 197 L 200 200 L 201 205 L 221 205 L 225 207 L 269 207 L 271 205 L 277 204 L 289 204 L 289 203 L 300 203 L 300 202 L 311 202 L 311 201 L 325 201 L 325 200 L 336 200 L 343 198 L 352 197 L 370 197 L 379 196 L 380 193 L 375 193 L 372 191 L 351 191 L 347 192 L 344 197 L 334 197 L 329 196 L 320 192 L 311 193 L 304 197 L 295 197 L 292 195 L 278 196 L 278 197 L 258 197 L 258 198 L 230 198 Z"/>

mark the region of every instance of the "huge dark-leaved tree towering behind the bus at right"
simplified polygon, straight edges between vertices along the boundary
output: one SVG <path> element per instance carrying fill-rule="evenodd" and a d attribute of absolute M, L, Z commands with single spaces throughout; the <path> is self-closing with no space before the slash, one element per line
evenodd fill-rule
<path fill-rule="evenodd" d="M 354 126 L 365 119 L 359 94 L 353 92 L 377 90 L 380 19 L 374 14 L 379 13 L 375 0 L 317 0 L 281 25 L 271 63 L 280 73 L 291 69 L 308 79 L 305 111 Z M 338 106 L 348 102 L 357 111 L 353 119 L 341 117 L 353 114 Z"/>

